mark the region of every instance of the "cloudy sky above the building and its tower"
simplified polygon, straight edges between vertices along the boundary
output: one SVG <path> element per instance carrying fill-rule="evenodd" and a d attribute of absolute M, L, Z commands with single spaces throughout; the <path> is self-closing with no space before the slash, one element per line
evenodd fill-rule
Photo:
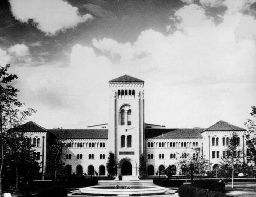
<path fill-rule="evenodd" d="M 256 0 L 2 0 L 0 65 L 51 129 L 108 122 L 108 81 L 145 81 L 145 122 L 244 127 L 256 102 Z"/>

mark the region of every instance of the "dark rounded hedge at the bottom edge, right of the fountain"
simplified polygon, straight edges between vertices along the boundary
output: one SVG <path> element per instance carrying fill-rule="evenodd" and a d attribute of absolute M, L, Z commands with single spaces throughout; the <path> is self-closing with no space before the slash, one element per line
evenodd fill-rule
<path fill-rule="evenodd" d="M 200 189 L 191 185 L 182 185 L 179 187 L 179 197 L 228 197 L 226 194 Z"/>

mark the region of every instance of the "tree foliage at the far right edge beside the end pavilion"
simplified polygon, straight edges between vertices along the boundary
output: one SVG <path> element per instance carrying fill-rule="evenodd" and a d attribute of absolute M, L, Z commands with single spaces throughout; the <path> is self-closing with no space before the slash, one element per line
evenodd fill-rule
<path fill-rule="evenodd" d="M 245 126 L 247 127 L 246 131 L 246 144 L 247 144 L 247 161 L 254 162 L 256 165 L 256 106 L 251 107 L 251 116 L 252 119 L 246 119 Z"/>

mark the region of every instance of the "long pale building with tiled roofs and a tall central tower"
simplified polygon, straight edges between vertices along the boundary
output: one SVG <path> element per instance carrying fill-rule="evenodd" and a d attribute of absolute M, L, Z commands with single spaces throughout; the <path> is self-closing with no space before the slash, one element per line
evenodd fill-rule
<path fill-rule="evenodd" d="M 109 122 L 87 129 L 45 129 L 35 122 L 23 128 L 31 136 L 43 170 L 49 159 L 53 136 L 63 142 L 63 162 L 70 173 L 95 169 L 106 175 L 108 153 L 115 153 L 117 173 L 139 175 L 139 158 L 145 155 L 147 174 L 155 175 L 161 166 L 176 165 L 186 154 L 202 154 L 214 168 L 224 154 L 233 132 L 239 136 L 240 150 L 246 153 L 245 129 L 219 121 L 206 129 L 168 129 L 144 122 L 144 81 L 124 75 L 109 81 Z M 65 133 L 65 135 L 60 135 Z M 177 171 L 178 173 L 178 171 Z"/>

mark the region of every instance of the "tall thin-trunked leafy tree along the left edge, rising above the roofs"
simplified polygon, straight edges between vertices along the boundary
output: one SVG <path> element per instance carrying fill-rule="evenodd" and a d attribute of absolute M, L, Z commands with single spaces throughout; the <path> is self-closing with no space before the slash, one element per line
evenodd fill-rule
<path fill-rule="evenodd" d="M 2 196 L 2 175 L 5 162 L 4 141 L 9 137 L 5 133 L 10 128 L 21 125 L 27 116 L 35 112 L 32 108 L 20 110 L 24 103 L 18 101 L 19 90 L 11 85 L 18 77 L 8 73 L 9 67 L 10 64 L 0 67 L 0 196 Z"/>

